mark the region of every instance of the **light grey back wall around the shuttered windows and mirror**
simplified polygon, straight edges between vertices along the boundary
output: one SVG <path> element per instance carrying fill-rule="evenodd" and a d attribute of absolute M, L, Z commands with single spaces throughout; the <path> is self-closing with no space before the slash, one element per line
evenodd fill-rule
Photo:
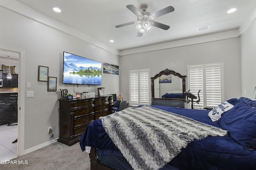
<path fill-rule="evenodd" d="M 188 40 L 189 41 L 189 40 Z M 120 93 L 129 98 L 128 71 L 151 69 L 151 77 L 166 68 L 187 75 L 187 66 L 224 63 L 225 100 L 241 96 L 239 38 L 199 43 L 152 52 L 124 55 L 120 59 Z M 187 80 L 186 80 L 187 81 Z M 188 87 L 186 87 L 188 90 Z"/>

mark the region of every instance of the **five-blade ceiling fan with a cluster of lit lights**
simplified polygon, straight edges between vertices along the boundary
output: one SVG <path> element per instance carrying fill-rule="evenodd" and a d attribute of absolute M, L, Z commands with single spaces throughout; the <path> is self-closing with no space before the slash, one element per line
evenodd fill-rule
<path fill-rule="evenodd" d="M 146 33 L 150 31 L 154 27 L 158 27 L 164 30 L 167 30 L 170 28 L 168 25 L 164 25 L 162 23 L 152 21 L 154 18 L 163 16 L 165 14 L 168 14 L 170 12 L 174 11 L 174 8 L 172 6 L 168 6 L 162 10 L 159 10 L 158 12 L 155 12 L 151 14 L 148 12 L 148 6 L 143 5 L 141 7 L 142 12 L 140 12 L 135 6 L 133 5 L 127 5 L 126 8 L 128 8 L 133 14 L 135 14 L 138 17 L 138 21 L 133 21 L 133 22 L 128 22 L 128 23 L 123 23 L 121 25 L 116 25 L 116 28 L 119 27 L 124 27 L 127 25 L 132 25 L 134 23 L 137 23 L 137 28 L 138 28 L 138 34 L 137 37 L 141 37 L 143 34 L 146 36 Z"/>

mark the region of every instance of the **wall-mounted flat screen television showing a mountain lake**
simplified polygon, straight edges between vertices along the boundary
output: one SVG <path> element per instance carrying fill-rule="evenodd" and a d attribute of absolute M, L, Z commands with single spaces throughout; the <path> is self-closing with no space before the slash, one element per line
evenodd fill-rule
<path fill-rule="evenodd" d="M 63 52 L 63 84 L 101 85 L 102 63 Z"/>

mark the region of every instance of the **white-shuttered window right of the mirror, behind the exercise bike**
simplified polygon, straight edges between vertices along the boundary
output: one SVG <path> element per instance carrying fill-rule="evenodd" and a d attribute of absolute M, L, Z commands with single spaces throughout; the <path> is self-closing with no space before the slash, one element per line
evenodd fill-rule
<path fill-rule="evenodd" d="M 194 108 L 215 107 L 224 101 L 223 64 L 188 66 L 188 87 L 200 102 Z"/>

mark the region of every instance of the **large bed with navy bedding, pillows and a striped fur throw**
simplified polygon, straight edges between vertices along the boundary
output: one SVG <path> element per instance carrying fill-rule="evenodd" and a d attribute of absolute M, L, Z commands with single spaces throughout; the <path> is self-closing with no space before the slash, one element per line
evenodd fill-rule
<path fill-rule="evenodd" d="M 132 169 L 160 169 L 160 170 L 234 170 L 234 169 L 255 169 L 256 167 L 256 101 L 250 100 L 248 98 L 230 99 L 219 106 L 216 106 L 212 111 L 208 110 L 197 110 L 197 109 L 184 109 L 176 107 L 167 107 L 167 106 L 142 106 L 138 108 L 128 108 L 123 111 L 114 113 L 112 115 L 101 117 L 98 120 L 93 121 L 88 125 L 80 139 L 80 147 L 82 151 L 90 152 L 90 161 L 91 161 L 91 170 L 132 170 Z M 144 115 L 144 110 L 151 110 L 147 114 L 153 114 L 155 112 L 157 115 L 155 117 L 161 117 L 163 121 L 159 121 L 159 125 L 149 124 L 152 117 L 140 118 Z M 127 113 L 126 113 L 127 112 Z M 127 116 L 130 112 L 134 112 L 132 116 L 126 117 L 127 122 L 130 123 L 130 119 L 138 121 L 147 121 L 149 127 L 154 127 L 156 129 L 162 129 L 162 123 L 166 121 L 164 126 L 172 125 L 173 128 L 182 129 L 182 125 L 175 123 L 180 123 L 185 121 L 192 121 L 193 124 L 196 123 L 195 129 L 201 129 L 204 131 L 210 127 L 210 133 L 207 132 L 207 135 L 200 134 L 197 136 L 197 132 L 193 132 L 192 127 L 190 130 L 182 131 L 178 138 L 182 136 L 183 139 L 188 139 L 184 145 L 179 146 L 176 149 L 176 145 L 180 145 L 182 142 L 178 142 L 173 145 L 176 141 L 176 136 L 171 135 L 171 147 L 172 149 L 167 148 L 166 150 L 170 151 L 171 156 L 166 155 L 164 150 L 156 152 L 157 147 L 166 147 L 162 145 L 162 141 L 150 142 L 149 139 L 145 137 L 147 133 L 137 132 L 139 126 L 143 125 L 131 125 L 129 124 L 126 127 L 126 121 L 120 120 L 118 123 L 119 117 Z M 174 116 L 174 118 L 169 118 Z M 116 118 L 118 117 L 118 118 Z M 130 118 L 136 117 L 136 118 Z M 176 117 L 182 119 L 182 121 L 176 121 Z M 175 120 L 175 121 L 174 121 Z M 117 124 L 112 124 L 112 122 L 117 122 Z M 200 125 L 200 127 L 198 126 Z M 202 125 L 202 127 L 201 127 Z M 109 127 L 108 127 L 109 126 Z M 156 157 L 150 155 L 144 150 L 139 152 L 134 152 L 134 146 L 130 142 L 126 145 L 126 148 L 120 147 L 125 141 L 118 141 L 115 138 L 116 129 L 119 135 L 117 138 L 122 138 L 124 132 L 120 129 L 130 129 L 135 128 L 130 132 L 136 132 L 137 135 L 131 135 L 128 137 L 131 143 L 136 143 L 136 138 L 142 136 L 142 145 L 145 145 L 146 148 L 151 148 Z M 123 127 L 123 128 L 122 128 Z M 158 128 L 159 127 L 159 128 Z M 160 128 L 161 127 L 161 128 Z M 186 127 L 186 126 L 185 126 Z M 213 130 L 213 132 L 212 132 Z M 161 131 L 166 131 L 162 129 Z M 154 131 L 152 136 L 158 134 L 160 138 L 165 138 L 168 135 L 163 135 L 161 131 Z M 174 132 L 176 130 L 173 130 Z M 130 133 L 129 132 L 129 133 Z M 169 133 L 170 130 L 166 133 Z M 171 131 L 172 132 L 172 131 Z M 185 134 L 186 133 L 186 134 Z M 201 132 L 200 132 L 201 133 Z M 149 133 L 150 134 L 150 133 Z M 146 134 L 147 136 L 148 134 Z M 188 135 L 188 136 L 186 136 Z M 150 135 L 149 135 L 150 136 Z M 193 138 L 191 138 L 193 136 Z M 194 137 L 196 136 L 196 137 Z M 111 138 L 110 138 L 111 137 Z M 123 136 L 126 137 L 126 136 Z M 134 138 L 134 139 L 133 139 Z M 167 137 L 166 137 L 167 138 Z M 127 140 L 127 139 L 126 139 Z M 170 139 L 169 139 L 170 140 Z M 178 140 L 178 139 L 177 139 Z M 150 144 L 149 144 L 149 143 Z M 170 141 L 168 141 L 170 142 Z M 168 143 L 167 142 L 167 143 Z M 121 143 L 121 145 L 120 145 Z M 127 141 L 126 141 L 127 143 Z M 131 146 L 130 146 L 131 145 Z M 156 148 L 152 148 L 153 145 L 157 145 Z M 130 146 L 130 148 L 127 146 Z M 169 146 L 169 145 L 168 145 Z M 144 146 L 142 146 L 144 147 Z M 142 148 L 141 147 L 141 148 Z M 160 148 L 161 148 L 160 147 Z M 171 150 L 175 150 L 173 153 Z M 152 152 L 153 152 L 152 151 Z M 172 152 L 172 153 L 171 153 Z M 128 154 L 127 154 L 128 153 Z M 159 157 L 159 158 L 158 158 Z M 162 161 L 160 158 L 166 158 Z M 156 162 L 161 162 L 163 164 L 152 166 L 154 160 Z M 158 160 L 159 159 L 159 160 Z M 134 165 L 134 162 L 131 160 L 137 161 Z M 146 161 L 145 161 L 146 160 Z M 169 161 L 170 160 L 170 161 Z M 129 162 L 129 163 L 128 163 Z M 139 163 L 138 163 L 139 162 Z M 146 163 L 145 163 L 146 162 Z M 137 166 L 137 164 L 139 164 Z M 142 164 L 142 165 L 140 165 Z M 146 164 L 146 165 L 145 165 Z M 150 165 L 148 165 L 150 164 Z M 150 166 L 150 168 L 148 168 Z"/>

